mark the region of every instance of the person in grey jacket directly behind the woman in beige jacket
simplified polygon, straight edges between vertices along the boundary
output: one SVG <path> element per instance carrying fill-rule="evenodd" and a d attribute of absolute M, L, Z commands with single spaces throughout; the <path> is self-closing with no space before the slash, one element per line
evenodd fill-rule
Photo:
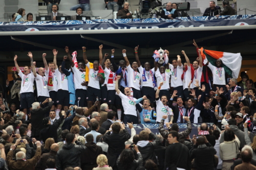
<path fill-rule="evenodd" d="M 242 114 L 242 113 L 240 113 L 240 114 Z M 242 120 L 242 122 L 243 122 L 243 120 Z M 237 121 L 234 118 L 230 118 L 228 120 L 228 125 L 229 126 L 226 126 L 226 129 L 231 129 L 234 132 L 234 134 L 238 137 L 238 139 L 240 140 L 239 149 L 241 150 L 244 147 L 244 145 L 246 144 L 244 132 L 241 131 L 240 129 L 238 129 Z M 222 133 L 221 137 L 220 137 L 220 143 L 223 143 L 223 142 L 224 142 L 224 133 Z"/>

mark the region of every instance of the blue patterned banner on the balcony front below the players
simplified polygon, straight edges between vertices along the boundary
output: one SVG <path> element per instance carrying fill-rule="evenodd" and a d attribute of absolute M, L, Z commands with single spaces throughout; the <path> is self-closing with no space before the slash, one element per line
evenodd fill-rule
<path fill-rule="evenodd" d="M 214 125 L 213 123 L 207 123 L 208 127 Z M 136 130 L 136 134 L 139 134 L 144 128 L 148 128 L 151 130 L 152 133 L 154 134 L 160 134 L 159 133 L 159 130 L 158 130 L 158 126 L 159 124 L 136 124 L 136 125 L 133 125 L 134 129 Z M 187 129 L 187 124 L 178 124 L 179 126 L 179 132 L 182 132 L 184 130 Z M 198 127 L 200 127 L 201 124 L 191 124 L 191 128 L 192 128 L 192 131 L 190 133 L 190 138 L 193 137 L 194 134 L 198 134 Z M 129 133 L 131 134 L 131 129 L 129 129 L 128 126 L 126 126 L 126 129 L 129 131 Z M 168 130 L 167 127 L 164 125 L 164 129 Z"/>

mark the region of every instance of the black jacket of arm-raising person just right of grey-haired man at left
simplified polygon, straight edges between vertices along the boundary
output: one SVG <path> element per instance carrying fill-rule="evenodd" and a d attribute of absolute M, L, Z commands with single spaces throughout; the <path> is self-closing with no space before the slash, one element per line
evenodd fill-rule
<path fill-rule="evenodd" d="M 64 119 L 64 116 L 62 115 L 52 125 L 46 125 L 45 128 L 40 131 L 40 139 L 44 141 L 44 143 L 46 142 L 46 139 L 48 139 L 49 137 L 52 137 L 55 143 L 58 142 L 57 129 L 59 125 L 62 123 L 63 119 Z"/>

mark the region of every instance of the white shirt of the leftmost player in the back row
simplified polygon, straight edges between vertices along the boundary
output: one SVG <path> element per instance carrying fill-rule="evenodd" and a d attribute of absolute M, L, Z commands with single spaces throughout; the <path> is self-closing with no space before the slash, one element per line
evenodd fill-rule
<path fill-rule="evenodd" d="M 34 92 L 33 85 L 34 85 L 35 77 L 33 73 L 24 75 L 22 71 L 19 70 L 18 75 L 20 78 L 22 78 L 22 87 L 20 88 L 19 94 L 26 93 L 26 92 Z"/>

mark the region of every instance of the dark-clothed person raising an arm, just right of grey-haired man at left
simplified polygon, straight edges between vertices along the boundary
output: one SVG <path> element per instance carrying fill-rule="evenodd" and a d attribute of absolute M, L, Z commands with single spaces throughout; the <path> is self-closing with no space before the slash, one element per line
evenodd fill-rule
<path fill-rule="evenodd" d="M 45 142 L 46 139 L 48 139 L 49 137 L 52 137 L 55 143 L 58 142 L 57 129 L 59 125 L 62 123 L 62 120 L 66 118 L 66 113 L 64 110 L 62 110 L 60 114 L 61 115 L 59 119 L 56 122 L 54 122 L 52 125 L 48 117 L 42 119 L 42 124 L 45 125 L 45 128 L 40 131 L 40 139 L 42 141 Z"/>

